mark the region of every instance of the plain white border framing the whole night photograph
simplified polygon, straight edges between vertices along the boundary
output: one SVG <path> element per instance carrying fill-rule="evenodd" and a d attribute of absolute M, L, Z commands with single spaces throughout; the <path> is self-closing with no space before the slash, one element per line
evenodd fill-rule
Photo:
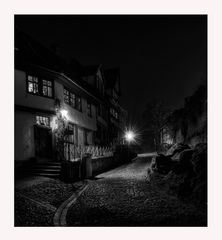
<path fill-rule="evenodd" d="M 2 239 L 221 239 L 221 10 L 220 1 L 1 1 Z M 208 227 L 14 227 L 14 14 L 208 14 Z"/>

